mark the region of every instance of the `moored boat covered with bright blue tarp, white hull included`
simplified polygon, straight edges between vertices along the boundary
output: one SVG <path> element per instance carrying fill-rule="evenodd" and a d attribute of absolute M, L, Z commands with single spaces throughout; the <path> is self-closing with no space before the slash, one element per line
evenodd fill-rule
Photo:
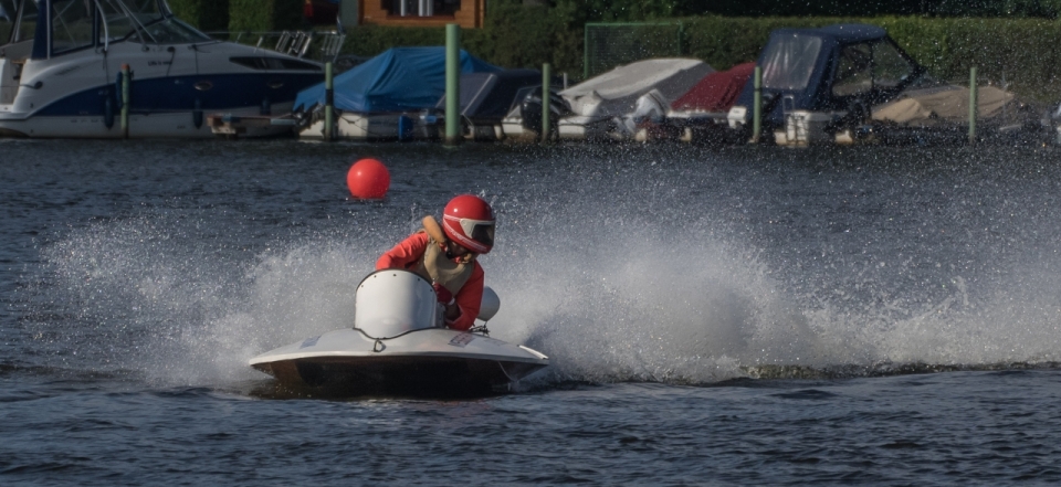
<path fill-rule="evenodd" d="M 461 73 L 495 73 L 501 67 L 465 51 Z M 445 94 L 445 47 L 392 47 L 334 80 L 336 134 L 358 139 L 432 138 L 433 121 L 421 118 Z M 303 137 L 322 137 L 324 83 L 298 93 L 294 110 L 316 113 Z M 433 118 L 433 117 L 432 117 Z"/>

